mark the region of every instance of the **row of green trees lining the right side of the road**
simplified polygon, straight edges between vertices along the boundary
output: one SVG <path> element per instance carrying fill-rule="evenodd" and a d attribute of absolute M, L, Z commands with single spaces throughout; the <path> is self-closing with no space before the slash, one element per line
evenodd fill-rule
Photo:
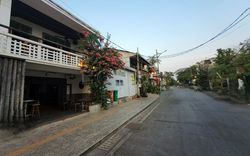
<path fill-rule="evenodd" d="M 210 58 L 177 73 L 179 83 L 198 86 L 225 94 L 244 96 L 250 94 L 250 43 L 248 39 L 239 49 L 217 49 Z"/>

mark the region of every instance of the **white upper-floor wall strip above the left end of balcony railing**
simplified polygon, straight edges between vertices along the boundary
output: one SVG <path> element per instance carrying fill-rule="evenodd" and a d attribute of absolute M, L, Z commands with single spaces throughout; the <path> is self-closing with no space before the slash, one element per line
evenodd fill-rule
<path fill-rule="evenodd" d="M 0 0 L 0 23 L 6 26 L 10 25 L 12 0 Z M 8 29 L 0 27 L 1 32 L 8 32 Z"/>

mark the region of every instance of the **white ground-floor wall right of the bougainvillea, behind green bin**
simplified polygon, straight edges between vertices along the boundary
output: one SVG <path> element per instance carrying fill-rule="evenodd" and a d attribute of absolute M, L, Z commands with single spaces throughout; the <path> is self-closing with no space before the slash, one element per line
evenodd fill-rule
<path fill-rule="evenodd" d="M 116 73 L 113 75 L 113 78 L 108 79 L 110 85 L 107 86 L 107 89 L 118 90 L 118 98 L 134 96 L 136 94 L 136 85 L 135 81 L 132 81 L 133 72 L 118 70 Z M 123 80 L 123 85 L 117 86 L 116 80 Z"/>

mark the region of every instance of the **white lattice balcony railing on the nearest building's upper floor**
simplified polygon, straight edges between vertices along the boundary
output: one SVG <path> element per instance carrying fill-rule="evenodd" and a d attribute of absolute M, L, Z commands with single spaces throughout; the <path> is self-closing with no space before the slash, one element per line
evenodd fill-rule
<path fill-rule="evenodd" d="M 80 69 L 82 55 L 77 55 L 23 37 L 0 32 L 0 55 L 29 62 Z"/>

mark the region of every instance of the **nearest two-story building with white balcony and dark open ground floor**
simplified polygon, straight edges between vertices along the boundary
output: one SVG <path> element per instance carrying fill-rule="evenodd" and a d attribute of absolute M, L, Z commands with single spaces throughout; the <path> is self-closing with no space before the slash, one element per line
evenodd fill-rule
<path fill-rule="evenodd" d="M 77 47 L 95 29 L 51 0 L 1 0 L 0 14 L 0 122 L 23 121 L 25 101 L 42 113 L 89 92 Z"/>

